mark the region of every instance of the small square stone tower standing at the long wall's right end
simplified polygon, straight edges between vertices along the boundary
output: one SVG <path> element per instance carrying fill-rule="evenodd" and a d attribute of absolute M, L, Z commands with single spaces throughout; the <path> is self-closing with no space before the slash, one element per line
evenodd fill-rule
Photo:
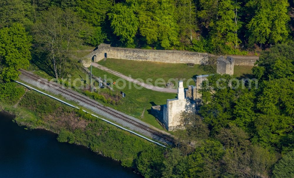
<path fill-rule="evenodd" d="M 228 56 L 226 59 L 220 56 L 216 61 L 216 73 L 234 74 L 234 58 Z"/>

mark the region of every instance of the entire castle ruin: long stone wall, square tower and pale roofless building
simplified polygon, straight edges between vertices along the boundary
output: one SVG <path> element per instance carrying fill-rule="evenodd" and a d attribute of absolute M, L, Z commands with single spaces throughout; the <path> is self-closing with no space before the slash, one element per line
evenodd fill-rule
<path fill-rule="evenodd" d="M 91 62 L 98 62 L 104 58 L 126 59 L 136 61 L 153 61 L 163 63 L 193 63 L 205 64 L 208 61 L 208 53 L 197 53 L 177 50 L 153 50 L 136 48 L 111 47 L 110 44 L 101 43 L 92 53 L 81 59 L 84 67 L 91 66 Z M 213 56 L 213 55 L 211 55 Z M 234 73 L 234 65 L 253 66 L 257 56 L 233 56 L 218 57 L 217 73 Z M 212 74 L 213 75 L 213 74 Z M 167 130 L 175 130 L 179 126 L 180 113 L 196 112 L 201 105 L 201 86 L 209 75 L 196 76 L 195 86 L 183 88 L 183 82 L 179 81 L 178 97 L 168 99 L 166 105 L 152 106 L 151 113 L 162 123 Z"/>

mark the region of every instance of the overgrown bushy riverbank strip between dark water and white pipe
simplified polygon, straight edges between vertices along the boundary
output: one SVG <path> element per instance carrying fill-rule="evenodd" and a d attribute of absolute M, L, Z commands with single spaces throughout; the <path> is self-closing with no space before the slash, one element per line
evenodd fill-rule
<path fill-rule="evenodd" d="M 93 152 L 137 169 L 141 155 L 163 155 L 164 149 L 115 126 L 16 83 L 0 84 L 0 109 L 16 115 L 20 125 L 58 133 L 59 142 L 84 145 Z M 161 156 L 162 157 L 162 156 Z M 139 167 L 142 165 L 139 165 Z M 138 169 L 137 169 L 138 170 Z"/>

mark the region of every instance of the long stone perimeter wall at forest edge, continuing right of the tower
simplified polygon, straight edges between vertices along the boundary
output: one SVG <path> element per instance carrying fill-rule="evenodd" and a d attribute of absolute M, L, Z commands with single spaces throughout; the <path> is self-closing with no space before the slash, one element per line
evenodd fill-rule
<path fill-rule="evenodd" d="M 136 61 L 152 61 L 163 63 L 206 63 L 208 56 L 214 56 L 208 53 L 197 53 L 178 50 L 153 50 L 137 48 L 117 48 L 110 44 L 100 44 L 98 48 L 85 56 L 83 60 L 98 62 L 103 58 L 126 59 Z M 253 66 L 258 59 L 257 56 L 232 56 L 235 59 L 235 65 Z M 84 62 L 86 63 L 86 62 Z"/>

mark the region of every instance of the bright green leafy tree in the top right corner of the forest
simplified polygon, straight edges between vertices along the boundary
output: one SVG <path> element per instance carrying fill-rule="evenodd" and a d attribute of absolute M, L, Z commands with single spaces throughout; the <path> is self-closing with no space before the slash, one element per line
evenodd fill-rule
<path fill-rule="evenodd" d="M 249 44 L 275 44 L 284 42 L 289 34 L 287 0 L 251 0 L 246 6 L 255 8 L 255 16 L 247 24 Z"/>

